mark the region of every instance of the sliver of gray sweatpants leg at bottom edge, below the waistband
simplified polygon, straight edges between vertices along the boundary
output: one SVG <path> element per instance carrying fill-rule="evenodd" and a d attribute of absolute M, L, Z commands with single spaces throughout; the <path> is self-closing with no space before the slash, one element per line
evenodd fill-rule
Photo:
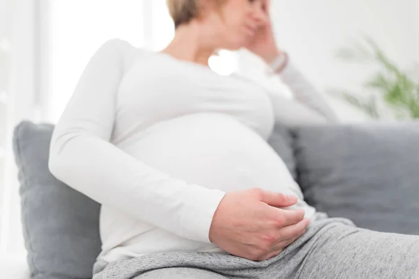
<path fill-rule="evenodd" d="M 205 269 L 192 269 L 186 267 L 170 267 L 165 269 L 154 269 L 134 279 L 226 279 L 226 277 L 207 271 Z"/>

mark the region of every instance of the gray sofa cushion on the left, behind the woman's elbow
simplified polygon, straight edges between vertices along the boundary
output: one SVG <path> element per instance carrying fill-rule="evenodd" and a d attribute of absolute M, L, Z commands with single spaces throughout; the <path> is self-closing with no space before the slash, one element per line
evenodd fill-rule
<path fill-rule="evenodd" d="M 50 173 L 52 130 L 24 121 L 13 138 L 29 268 L 36 279 L 91 278 L 101 251 L 100 206 Z"/>

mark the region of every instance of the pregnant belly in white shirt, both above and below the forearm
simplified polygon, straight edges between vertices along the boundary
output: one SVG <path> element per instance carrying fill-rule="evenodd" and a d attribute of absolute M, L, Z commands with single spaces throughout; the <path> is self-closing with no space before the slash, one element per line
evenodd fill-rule
<path fill-rule="evenodd" d="M 154 125 L 131 140 L 119 147 L 174 178 L 226 193 L 253 187 L 291 193 L 299 197 L 295 206 L 304 209 L 306 217 L 314 215 L 277 153 L 230 116 L 183 116 Z M 101 238 L 103 258 L 108 261 L 120 255 L 176 250 L 223 252 L 213 243 L 183 239 L 107 206 L 101 209 Z"/>

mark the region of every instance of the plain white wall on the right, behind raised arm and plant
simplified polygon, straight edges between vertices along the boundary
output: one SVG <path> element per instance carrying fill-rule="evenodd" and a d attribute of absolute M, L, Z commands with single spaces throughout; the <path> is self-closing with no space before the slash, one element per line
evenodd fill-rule
<path fill-rule="evenodd" d="M 360 91 L 371 66 L 343 63 L 335 57 L 341 47 L 371 36 L 399 66 L 419 61 L 418 0 L 272 0 L 272 21 L 279 46 L 318 89 Z M 242 54 L 247 56 L 247 54 Z M 260 62 L 247 59 L 246 71 L 258 75 Z M 253 67 L 251 67 L 253 65 Z M 263 77 L 260 77 L 263 79 Z M 337 106 L 342 117 L 362 119 L 351 108 Z M 343 112 L 342 110 L 347 110 Z"/>

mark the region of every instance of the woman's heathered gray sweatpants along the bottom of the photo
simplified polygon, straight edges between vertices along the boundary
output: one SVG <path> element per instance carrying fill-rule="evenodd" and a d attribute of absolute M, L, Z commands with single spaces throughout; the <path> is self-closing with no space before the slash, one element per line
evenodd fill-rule
<path fill-rule="evenodd" d="M 96 263 L 94 279 L 419 278 L 419 236 L 374 232 L 317 213 L 300 239 L 262 262 L 219 253 L 168 252 L 103 267 Z"/>

